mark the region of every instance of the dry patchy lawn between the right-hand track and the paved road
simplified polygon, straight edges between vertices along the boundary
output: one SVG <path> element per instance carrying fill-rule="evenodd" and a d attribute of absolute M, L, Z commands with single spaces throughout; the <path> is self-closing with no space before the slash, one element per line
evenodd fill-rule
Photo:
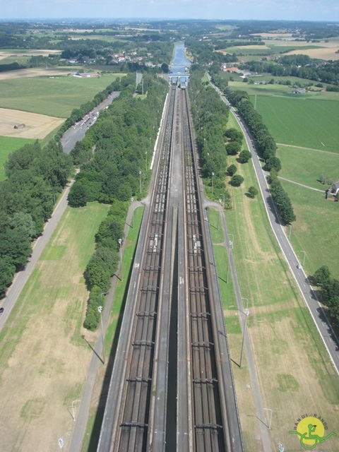
<path fill-rule="evenodd" d="M 288 450 L 299 451 L 298 439 L 288 433 L 299 416 L 317 412 L 326 418 L 329 429 L 338 426 L 339 377 L 287 268 L 261 197 L 251 199 L 246 196 L 249 186 L 257 186 L 253 166 L 251 163 L 237 166 L 244 184 L 232 189 L 234 210 L 227 211 L 225 216 L 228 232 L 234 234 L 233 255 L 242 297 L 249 299 L 247 326 L 263 406 L 273 410 L 270 430 L 273 447 L 282 441 Z M 215 228 L 211 227 L 211 230 L 214 234 Z M 215 243 L 220 246 L 220 237 Z M 224 252 L 221 263 L 219 254 L 220 251 L 215 253 L 218 275 L 220 271 L 220 275 L 225 275 L 227 253 Z M 219 283 L 223 293 L 222 285 L 226 283 L 220 278 Z M 230 306 L 227 300 L 223 302 L 225 316 L 231 319 L 226 320 L 226 325 L 230 325 L 234 322 L 234 302 L 231 301 Z M 242 333 L 237 333 L 238 328 L 229 329 L 231 357 L 239 362 Z M 244 374 L 248 375 L 246 359 L 243 359 L 242 369 L 234 364 L 233 371 L 245 450 L 251 452 L 256 450 L 253 445 L 258 441 L 256 436 L 260 431 L 257 423 L 249 423 L 256 412 L 248 403 L 251 399 L 246 386 L 250 381 L 244 377 Z M 267 415 L 266 423 L 268 420 Z M 322 451 L 335 452 L 337 446 L 335 440 L 328 440 L 321 447 Z"/>

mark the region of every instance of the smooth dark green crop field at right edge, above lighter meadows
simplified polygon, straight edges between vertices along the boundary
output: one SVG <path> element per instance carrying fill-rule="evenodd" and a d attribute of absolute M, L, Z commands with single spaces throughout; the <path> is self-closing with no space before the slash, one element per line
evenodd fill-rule
<path fill-rule="evenodd" d="M 256 108 L 277 143 L 339 153 L 338 102 L 258 96 Z"/>

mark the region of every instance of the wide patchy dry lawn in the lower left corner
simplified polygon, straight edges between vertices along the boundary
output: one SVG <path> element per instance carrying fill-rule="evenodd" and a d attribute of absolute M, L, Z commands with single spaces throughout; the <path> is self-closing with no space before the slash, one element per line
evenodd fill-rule
<path fill-rule="evenodd" d="M 1 451 L 53 451 L 60 436 L 69 439 L 69 407 L 81 398 L 93 355 L 81 337 L 88 298 L 83 271 L 108 209 L 99 203 L 66 208 L 0 333 Z"/>

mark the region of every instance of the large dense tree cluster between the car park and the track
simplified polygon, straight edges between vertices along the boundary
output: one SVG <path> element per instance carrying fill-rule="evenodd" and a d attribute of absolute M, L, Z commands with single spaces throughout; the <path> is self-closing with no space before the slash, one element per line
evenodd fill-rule
<path fill-rule="evenodd" d="M 87 201 L 129 201 L 140 193 L 139 171 L 145 172 L 145 152 L 155 141 L 168 88 L 161 78 L 144 74 L 147 96 L 141 99 L 133 97 L 135 74 L 119 83 L 119 97 L 71 153 L 74 162 L 82 165 L 69 193 L 71 206 L 83 206 Z"/>

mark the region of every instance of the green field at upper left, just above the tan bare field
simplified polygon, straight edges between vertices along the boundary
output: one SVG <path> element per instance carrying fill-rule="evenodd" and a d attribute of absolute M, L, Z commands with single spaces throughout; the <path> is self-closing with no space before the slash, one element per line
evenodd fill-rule
<path fill-rule="evenodd" d="M 100 78 L 43 76 L 1 80 L 0 77 L 0 107 L 67 118 L 74 108 L 92 100 L 117 76 L 121 74 L 105 74 Z"/>

